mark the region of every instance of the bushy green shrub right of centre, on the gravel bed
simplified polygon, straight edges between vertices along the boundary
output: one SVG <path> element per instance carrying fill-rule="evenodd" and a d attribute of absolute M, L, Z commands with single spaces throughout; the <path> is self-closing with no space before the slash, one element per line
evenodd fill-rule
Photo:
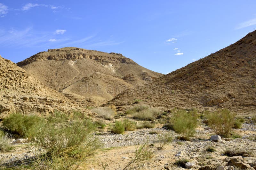
<path fill-rule="evenodd" d="M 196 132 L 197 115 L 195 115 L 195 111 L 178 110 L 173 114 L 171 122 L 174 131 L 180 134 L 181 140 L 188 140 Z"/>

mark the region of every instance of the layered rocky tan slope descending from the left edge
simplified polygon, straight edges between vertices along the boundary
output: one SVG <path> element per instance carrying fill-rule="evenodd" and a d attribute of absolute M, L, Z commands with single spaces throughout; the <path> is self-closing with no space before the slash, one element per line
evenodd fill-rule
<path fill-rule="evenodd" d="M 46 115 L 54 110 L 72 109 L 81 110 L 78 104 L 71 103 L 62 94 L 45 87 L 15 63 L 0 56 L 0 118 L 12 112 Z"/>

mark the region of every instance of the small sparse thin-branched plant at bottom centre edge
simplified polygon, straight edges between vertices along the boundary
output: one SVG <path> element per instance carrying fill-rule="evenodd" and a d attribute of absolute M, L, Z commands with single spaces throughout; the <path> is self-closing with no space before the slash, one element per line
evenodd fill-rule
<path fill-rule="evenodd" d="M 154 153 L 149 151 L 147 148 L 147 142 L 145 142 L 143 145 L 137 145 L 134 152 L 134 157 L 132 160 L 124 167 L 123 170 L 128 169 L 129 166 L 132 166 L 139 162 L 144 162 L 146 160 L 152 159 L 154 156 Z M 133 169 L 133 168 L 130 168 Z"/>

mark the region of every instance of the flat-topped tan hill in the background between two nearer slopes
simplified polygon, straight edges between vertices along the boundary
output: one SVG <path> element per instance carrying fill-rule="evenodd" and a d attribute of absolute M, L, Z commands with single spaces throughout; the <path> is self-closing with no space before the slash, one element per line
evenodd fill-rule
<path fill-rule="evenodd" d="M 162 75 L 122 54 L 75 47 L 40 52 L 17 65 L 84 106 L 105 103 L 125 89 Z"/>

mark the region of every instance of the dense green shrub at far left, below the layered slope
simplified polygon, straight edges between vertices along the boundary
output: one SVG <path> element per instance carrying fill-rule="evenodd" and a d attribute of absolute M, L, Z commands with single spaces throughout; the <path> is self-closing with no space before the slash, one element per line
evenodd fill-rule
<path fill-rule="evenodd" d="M 41 124 L 43 119 L 36 115 L 22 115 L 13 113 L 6 117 L 3 121 L 4 129 L 11 131 L 19 137 L 27 137 L 26 133 L 36 124 Z"/>

